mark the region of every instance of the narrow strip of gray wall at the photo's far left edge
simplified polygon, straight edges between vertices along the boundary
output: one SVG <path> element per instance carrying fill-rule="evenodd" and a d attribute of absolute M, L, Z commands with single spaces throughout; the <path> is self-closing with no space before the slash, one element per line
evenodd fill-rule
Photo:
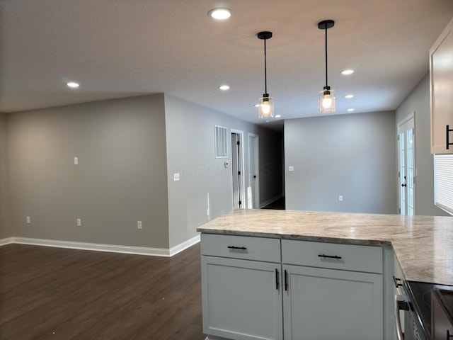
<path fill-rule="evenodd" d="M 12 237 L 8 221 L 8 153 L 6 114 L 0 113 L 0 239 Z"/>

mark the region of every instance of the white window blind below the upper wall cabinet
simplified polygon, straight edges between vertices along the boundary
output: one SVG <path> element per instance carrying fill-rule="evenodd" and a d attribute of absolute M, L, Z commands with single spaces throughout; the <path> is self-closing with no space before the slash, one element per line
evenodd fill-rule
<path fill-rule="evenodd" d="M 434 203 L 453 215 L 453 154 L 434 155 Z"/>

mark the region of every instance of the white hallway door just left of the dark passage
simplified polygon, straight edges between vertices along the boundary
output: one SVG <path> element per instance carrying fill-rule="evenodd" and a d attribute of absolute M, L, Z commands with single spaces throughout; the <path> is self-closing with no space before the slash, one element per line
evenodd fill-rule
<path fill-rule="evenodd" d="M 259 174 L 259 139 L 258 135 L 248 134 L 248 187 L 247 208 L 258 209 L 260 207 L 260 177 Z"/>

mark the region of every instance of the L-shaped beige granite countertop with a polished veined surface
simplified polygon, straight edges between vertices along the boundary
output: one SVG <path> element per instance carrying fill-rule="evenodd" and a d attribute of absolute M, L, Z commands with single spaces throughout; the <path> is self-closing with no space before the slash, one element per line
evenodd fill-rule
<path fill-rule="evenodd" d="M 293 210 L 236 210 L 197 228 L 234 234 L 391 245 L 406 280 L 453 285 L 453 217 Z"/>

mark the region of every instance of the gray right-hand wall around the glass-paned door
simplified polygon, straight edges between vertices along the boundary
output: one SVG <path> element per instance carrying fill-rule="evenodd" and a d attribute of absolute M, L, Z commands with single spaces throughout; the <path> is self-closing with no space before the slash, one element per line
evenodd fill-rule
<path fill-rule="evenodd" d="M 421 79 L 396 109 L 396 124 L 414 112 L 415 115 L 415 213 L 417 215 L 445 215 L 434 205 L 434 165 L 430 151 L 430 78 Z M 395 132 L 396 133 L 396 132 Z"/>

